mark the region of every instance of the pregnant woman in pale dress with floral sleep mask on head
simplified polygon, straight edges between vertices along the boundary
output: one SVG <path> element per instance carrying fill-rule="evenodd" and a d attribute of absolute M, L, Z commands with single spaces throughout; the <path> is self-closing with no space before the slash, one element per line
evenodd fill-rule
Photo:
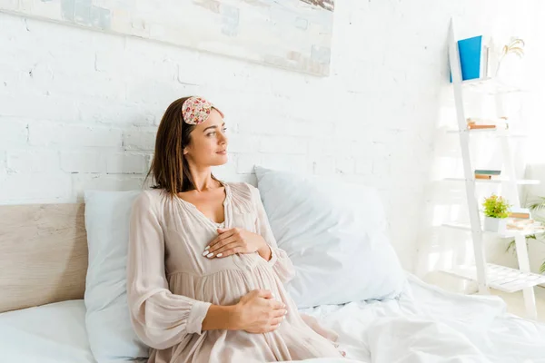
<path fill-rule="evenodd" d="M 151 190 L 134 202 L 127 290 L 149 362 L 272 362 L 336 357 L 334 332 L 300 315 L 283 287 L 292 262 L 259 191 L 217 180 L 227 162 L 223 113 L 174 101 L 155 142 Z"/>

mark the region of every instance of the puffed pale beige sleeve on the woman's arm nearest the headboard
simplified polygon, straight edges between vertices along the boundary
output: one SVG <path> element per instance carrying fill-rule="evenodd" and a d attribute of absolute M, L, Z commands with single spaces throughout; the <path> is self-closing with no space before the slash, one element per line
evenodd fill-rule
<path fill-rule="evenodd" d="M 164 274 L 163 230 L 149 193 L 134 201 L 127 257 L 127 302 L 134 331 L 153 348 L 202 334 L 209 302 L 173 294 Z"/>

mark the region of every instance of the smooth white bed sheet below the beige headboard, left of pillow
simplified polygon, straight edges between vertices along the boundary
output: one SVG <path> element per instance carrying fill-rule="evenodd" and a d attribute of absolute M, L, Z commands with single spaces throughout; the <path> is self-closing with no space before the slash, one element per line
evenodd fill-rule
<path fill-rule="evenodd" d="M 84 300 L 0 314 L 0 361 L 94 363 L 85 330 Z"/>

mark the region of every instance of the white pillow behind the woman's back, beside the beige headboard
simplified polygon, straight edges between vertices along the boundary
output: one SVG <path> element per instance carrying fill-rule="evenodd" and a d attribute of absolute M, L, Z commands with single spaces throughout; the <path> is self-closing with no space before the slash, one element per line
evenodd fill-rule
<path fill-rule="evenodd" d="M 148 357 L 134 333 L 126 294 L 126 260 L 133 202 L 141 191 L 85 191 L 89 268 L 85 322 L 99 363 Z"/>

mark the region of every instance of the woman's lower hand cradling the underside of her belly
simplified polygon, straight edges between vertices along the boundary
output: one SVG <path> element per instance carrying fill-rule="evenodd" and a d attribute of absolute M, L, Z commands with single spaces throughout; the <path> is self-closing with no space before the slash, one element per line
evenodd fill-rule
<path fill-rule="evenodd" d="M 268 333 L 278 329 L 285 318 L 285 304 L 272 299 L 272 292 L 250 291 L 234 306 L 237 328 L 249 333 Z"/>

